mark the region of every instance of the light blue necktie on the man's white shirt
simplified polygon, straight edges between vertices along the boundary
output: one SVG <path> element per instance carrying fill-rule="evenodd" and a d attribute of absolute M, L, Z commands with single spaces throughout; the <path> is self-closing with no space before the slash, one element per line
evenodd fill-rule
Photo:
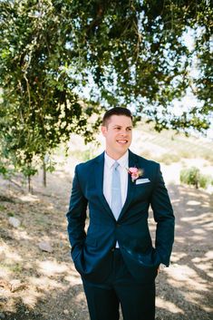
<path fill-rule="evenodd" d="M 121 177 L 119 171 L 119 163 L 115 161 L 112 166 L 111 178 L 111 211 L 116 220 L 119 218 L 121 208 Z"/>

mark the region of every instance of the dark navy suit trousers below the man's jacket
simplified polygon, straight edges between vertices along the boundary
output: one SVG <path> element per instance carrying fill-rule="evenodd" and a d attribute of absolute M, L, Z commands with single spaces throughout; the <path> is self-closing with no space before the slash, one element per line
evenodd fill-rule
<path fill-rule="evenodd" d="M 155 283 L 140 284 L 125 266 L 120 249 L 111 251 L 111 274 L 104 283 L 83 279 L 91 320 L 155 319 Z"/>

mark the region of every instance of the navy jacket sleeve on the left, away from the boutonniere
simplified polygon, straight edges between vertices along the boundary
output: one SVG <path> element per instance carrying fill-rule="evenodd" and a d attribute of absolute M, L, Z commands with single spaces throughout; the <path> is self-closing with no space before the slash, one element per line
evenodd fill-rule
<path fill-rule="evenodd" d="M 68 221 L 68 235 L 72 246 L 72 257 L 77 256 L 79 250 L 81 250 L 85 233 L 85 220 L 86 220 L 86 209 L 87 199 L 83 196 L 82 188 L 80 186 L 78 177 L 79 166 L 75 168 L 75 174 L 73 178 L 73 189 L 71 193 L 70 206 L 66 214 Z"/>

